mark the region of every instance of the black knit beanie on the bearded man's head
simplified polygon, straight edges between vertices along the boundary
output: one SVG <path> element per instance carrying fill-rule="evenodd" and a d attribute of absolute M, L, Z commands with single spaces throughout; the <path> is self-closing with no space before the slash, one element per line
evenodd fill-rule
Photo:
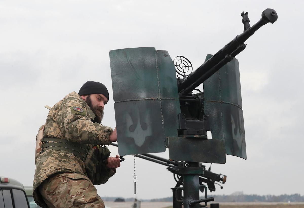
<path fill-rule="evenodd" d="M 100 82 L 87 81 L 80 88 L 78 95 L 91 95 L 91 94 L 102 94 L 109 100 L 108 89 Z"/>

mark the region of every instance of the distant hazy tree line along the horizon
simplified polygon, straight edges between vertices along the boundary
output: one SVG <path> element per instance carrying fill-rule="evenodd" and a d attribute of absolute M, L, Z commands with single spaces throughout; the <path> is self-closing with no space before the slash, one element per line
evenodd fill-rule
<path fill-rule="evenodd" d="M 282 194 L 275 195 L 257 195 L 257 194 L 231 194 L 231 195 L 208 195 L 208 197 L 214 197 L 215 202 L 304 202 L 304 196 L 300 194 Z M 205 196 L 201 196 L 203 199 Z M 114 201 L 117 198 L 125 199 L 123 197 L 101 197 L 104 201 Z M 159 199 L 139 199 L 142 202 L 171 202 L 171 197 L 159 198 Z M 134 198 L 126 198 L 126 202 L 134 201 Z"/>

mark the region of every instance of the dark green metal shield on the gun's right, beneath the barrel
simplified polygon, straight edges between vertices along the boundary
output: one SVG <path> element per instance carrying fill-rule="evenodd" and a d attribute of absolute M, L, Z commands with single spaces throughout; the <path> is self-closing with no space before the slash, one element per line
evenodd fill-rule
<path fill-rule="evenodd" d="M 233 58 L 203 85 L 212 139 L 225 140 L 226 154 L 247 159 L 238 60 Z"/>

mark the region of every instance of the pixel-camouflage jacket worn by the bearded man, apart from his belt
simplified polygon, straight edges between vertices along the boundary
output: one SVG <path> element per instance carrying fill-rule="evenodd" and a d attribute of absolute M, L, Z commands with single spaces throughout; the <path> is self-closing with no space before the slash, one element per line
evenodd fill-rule
<path fill-rule="evenodd" d="M 77 111 L 79 108 L 81 110 Z M 87 146 L 89 144 L 111 144 L 109 137 L 113 132 L 112 128 L 93 123 L 94 118 L 95 114 L 87 103 L 76 92 L 72 92 L 50 109 L 43 137 L 61 138 L 79 144 L 87 144 Z M 114 169 L 107 171 L 105 181 L 115 173 Z M 41 202 L 38 186 L 58 172 L 73 172 L 88 177 L 84 162 L 73 153 L 63 150 L 44 151 L 36 160 L 33 183 L 33 196 L 36 202 Z"/>

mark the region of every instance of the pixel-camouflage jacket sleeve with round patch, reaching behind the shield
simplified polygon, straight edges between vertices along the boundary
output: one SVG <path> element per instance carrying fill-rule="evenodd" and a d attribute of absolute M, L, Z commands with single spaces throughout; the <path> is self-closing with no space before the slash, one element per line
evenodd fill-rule
<path fill-rule="evenodd" d="M 79 144 L 111 144 L 111 127 L 93 123 L 95 115 L 85 101 L 77 94 L 66 97 L 57 112 L 57 123 L 67 140 Z M 74 110 L 80 108 L 82 112 Z"/>

